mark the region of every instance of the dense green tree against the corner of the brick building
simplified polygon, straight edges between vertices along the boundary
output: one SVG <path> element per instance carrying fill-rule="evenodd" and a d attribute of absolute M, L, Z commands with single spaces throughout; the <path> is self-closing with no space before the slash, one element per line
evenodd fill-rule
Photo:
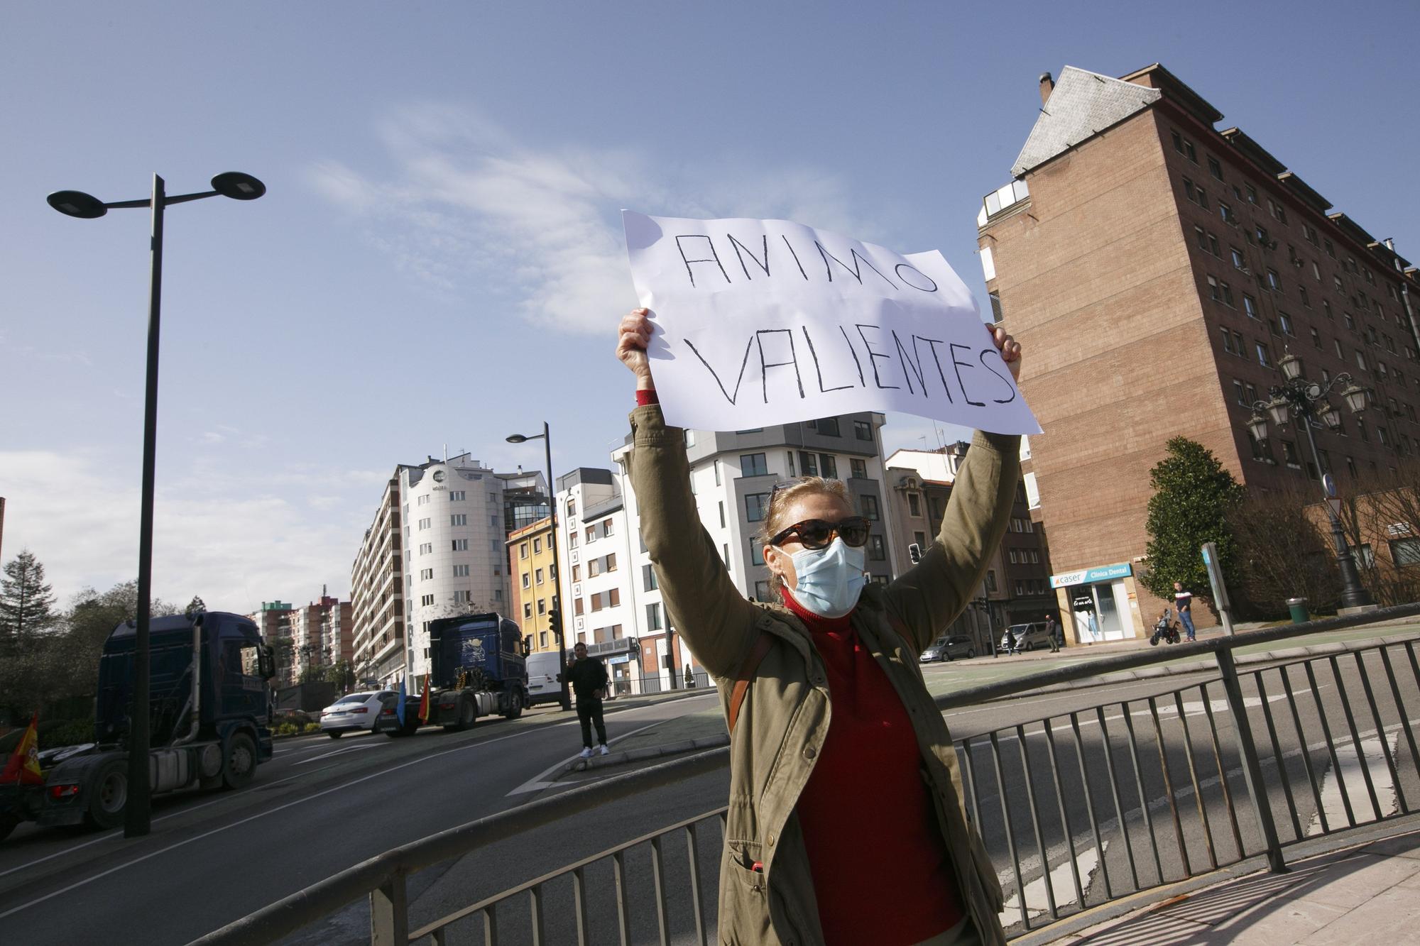
<path fill-rule="evenodd" d="M 1149 567 L 1140 582 L 1164 599 L 1173 598 L 1176 581 L 1208 597 L 1201 548 L 1204 543 L 1217 544 L 1223 578 L 1234 585 L 1237 554 L 1227 517 L 1244 490 L 1201 443 L 1173 437 L 1166 449 L 1167 456 L 1149 470 L 1154 494 L 1145 524 Z"/>

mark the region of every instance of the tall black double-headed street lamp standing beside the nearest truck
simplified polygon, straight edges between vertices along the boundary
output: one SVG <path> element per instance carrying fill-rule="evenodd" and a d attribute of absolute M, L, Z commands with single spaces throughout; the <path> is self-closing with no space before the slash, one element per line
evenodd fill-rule
<path fill-rule="evenodd" d="M 136 838 L 152 828 L 149 798 L 149 618 L 153 578 L 153 476 L 158 453 L 158 338 L 163 286 L 163 210 L 173 203 L 202 200 L 222 195 L 233 200 L 256 200 L 266 185 L 237 170 L 212 179 L 212 190 L 169 197 L 163 179 L 153 175 L 153 193 L 142 200 L 104 203 L 82 190 L 55 190 L 45 200 L 62 214 L 92 220 L 112 209 L 149 207 L 152 210 L 152 259 L 148 284 L 148 384 L 143 395 L 143 491 L 138 524 L 138 615 L 133 632 L 133 712 L 128 730 L 128 804 L 124 805 L 124 837 Z"/>

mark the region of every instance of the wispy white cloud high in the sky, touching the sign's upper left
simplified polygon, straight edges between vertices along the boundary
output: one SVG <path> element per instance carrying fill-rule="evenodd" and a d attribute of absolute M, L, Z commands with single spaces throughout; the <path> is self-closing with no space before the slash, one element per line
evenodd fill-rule
<path fill-rule="evenodd" d="M 635 304 L 621 207 L 699 217 L 781 216 L 873 239 L 848 187 L 818 168 L 763 168 L 719 155 L 665 168 L 632 151 L 520 145 L 486 116 L 423 104 L 376 125 L 386 180 L 325 161 L 311 186 L 366 222 L 365 240 L 426 293 L 450 301 L 477 283 L 534 324 L 604 332 Z"/>

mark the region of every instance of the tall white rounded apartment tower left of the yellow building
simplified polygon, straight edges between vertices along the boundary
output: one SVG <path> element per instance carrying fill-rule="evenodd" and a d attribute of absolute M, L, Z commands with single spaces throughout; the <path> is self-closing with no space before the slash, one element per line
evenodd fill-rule
<path fill-rule="evenodd" d="M 541 473 L 497 473 L 467 453 L 399 464 L 366 533 L 368 553 L 362 548 L 356 558 L 356 673 L 390 686 L 405 676 L 417 692 L 429 672 L 430 621 L 507 612 L 511 585 L 504 543 L 524 514 L 547 516 Z M 392 624 L 402 638 L 399 646 L 388 629 L 375 626 L 381 619 L 390 622 L 383 609 L 388 602 L 398 602 Z"/>

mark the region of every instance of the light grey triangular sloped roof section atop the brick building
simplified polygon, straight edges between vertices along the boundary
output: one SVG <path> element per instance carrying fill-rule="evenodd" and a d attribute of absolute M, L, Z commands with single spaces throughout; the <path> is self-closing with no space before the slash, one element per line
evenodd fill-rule
<path fill-rule="evenodd" d="M 1041 108 L 1035 128 L 1011 168 L 1020 178 L 1032 168 L 1149 108 L 1163 94 L 1123 80 L 1066 65 Z"/>

